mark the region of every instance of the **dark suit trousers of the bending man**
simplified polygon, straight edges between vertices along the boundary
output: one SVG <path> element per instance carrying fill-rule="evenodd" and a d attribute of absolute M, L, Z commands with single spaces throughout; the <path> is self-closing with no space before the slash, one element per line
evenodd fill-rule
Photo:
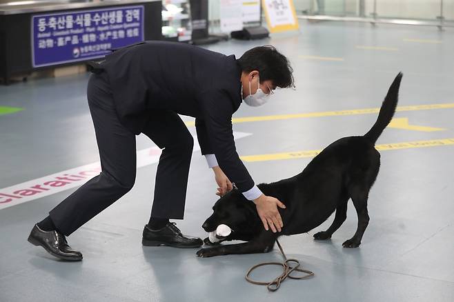
<path fill-rule="evenodd" d="M 87 97 L 101 173 L 49 212 L 57 229 L 66 236 L 129 192 L 136 177 L 135 134 L 117 117 L 106 72 L 91 74 Z M 177 113 L 164 110 L 150 110 L 142 132 L 164 148 L 157 166 L 151 216 L 183 219 L 193 137 Z"/>

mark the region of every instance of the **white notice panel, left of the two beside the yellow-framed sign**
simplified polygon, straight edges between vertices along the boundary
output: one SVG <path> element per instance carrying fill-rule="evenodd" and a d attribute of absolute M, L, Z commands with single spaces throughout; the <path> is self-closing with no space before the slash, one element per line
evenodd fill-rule
<path fill-rule="evenodd" d="M 221 0 L 219 3 L 219 19 L 222 32 L 233 32 L 243 29 L 241 19 L 242 0 Z"/>

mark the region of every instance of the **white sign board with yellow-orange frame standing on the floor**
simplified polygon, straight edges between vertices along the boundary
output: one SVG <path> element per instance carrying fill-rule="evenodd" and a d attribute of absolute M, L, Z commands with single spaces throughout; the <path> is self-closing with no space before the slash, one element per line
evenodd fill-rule
<path fill-rule="evenodd" d="M 263 0 L 270 32 L 297 30 L 298 21 L 292 0 Z"/>

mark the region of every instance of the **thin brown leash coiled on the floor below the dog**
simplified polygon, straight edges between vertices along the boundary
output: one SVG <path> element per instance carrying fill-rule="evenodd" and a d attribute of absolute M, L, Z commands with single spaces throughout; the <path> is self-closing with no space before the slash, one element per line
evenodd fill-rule
<path fill-rule="evenodd" d="M 282 250 L 282 246 L 279 243 L 279 241 L 276 240 L 277 246 L 279 247 L 279 250 L 282 253 L 282 256 L 284 257 L 284 262 L 264 262 L 264 263 L 259 263 L 257 265 L 254 265 L 252 268 L 248 270 L 246 273 L 246 281 L 249 283 L 253 283 L 256 285 L 266 285 L 266 288 L 270 292 L 275 292 L 276 290 L 279 290 L 279 287 L 281 286 L 281 283 L 285 281 L 285 279 L 288 277 L 290 279 L 308 279 L 311 276 L 314 276 L 313 272 L 310 272 L 310 270 L 302 270 L 299 268 L 299 261 L 297 259 L 287 259 L 286 254 L 284 253 L 284 250 Z M 294 263 L 295 266 L 291 266 L 290 263 Z M 254 281 L 253 279 L 250 279 L 250 273 L 253 272 L 256 268 L 259 268 L 261 266 L 265 265 L 279 265 L 282 266 L 283 272 L 279 276 L 277 276 L 276 279 L 274 279 L 271 282 L 259 282 L 259 281 Z M 291 276 L 292 272 L 305 272 L 306 274 L 302 276 Z"/>

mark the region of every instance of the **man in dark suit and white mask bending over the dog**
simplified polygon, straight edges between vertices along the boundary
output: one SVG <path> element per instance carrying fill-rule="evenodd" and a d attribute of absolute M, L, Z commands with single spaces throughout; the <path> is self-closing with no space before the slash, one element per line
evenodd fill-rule
<path fill-rule="evenodd" d="M 272 46 L 248 50 L 240 59 L 184 43 L 148 41 L 121 48 L 90 63 L 88 105 L 95 125 L 102 172 L 85 183 L 28 238 L 59 259 L 80 261 L 69 236 L 117 201 L 135 183 L 135 136 L 144 133 L 164 148 L 143 245 L 197 248 L 201 239 L 181 234 L 169 219 L 183 219 L 193 137 L 178 114 L 195 117 L 201 153 L 215 172 L 219 195 L 233 183 L 257 205 L 264 228 L 280 231 L 277 207 L 255 185 L 235 149 L 232 114 L 244 100 L 262 105 L 276 87 L 293 86 L 292 68 Z M 232 182 L 231 182 L 232 181 Z"/>

